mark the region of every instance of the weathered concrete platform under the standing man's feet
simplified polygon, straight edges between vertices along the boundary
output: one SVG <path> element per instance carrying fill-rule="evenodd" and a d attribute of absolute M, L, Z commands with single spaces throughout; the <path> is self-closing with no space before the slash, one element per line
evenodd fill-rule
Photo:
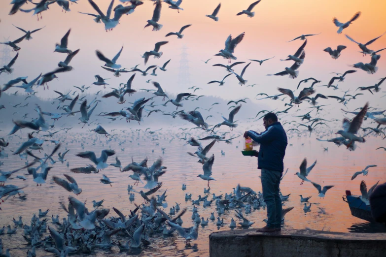
<path fill-rule="evenodd" d="M 282 229 L 213 232 L 211 257 L 386 257 L 386 233 L 341 233 Z"/>

